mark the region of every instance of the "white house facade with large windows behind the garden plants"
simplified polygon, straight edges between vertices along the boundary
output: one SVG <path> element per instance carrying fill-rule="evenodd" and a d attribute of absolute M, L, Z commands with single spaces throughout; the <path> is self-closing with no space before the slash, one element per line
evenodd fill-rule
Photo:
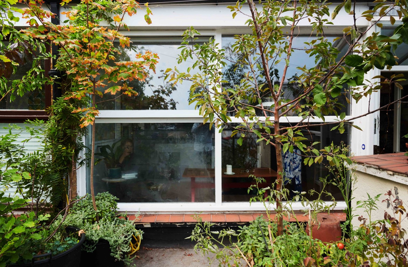
<path fill-rule="evenodd" d="M 51 11 L 58 12 L 60 21 L 64 21 L 66 18 L 60 13 L 64 8 L 57 8 L 54 2 L 49 4 Z M 146 82 L 135 82 L 132 85 L 139 92 L 137 97 L 113 95 L 110 99 L 96 99 L 100 115 L 95 119 L 93 127 L 96 130 L 96 153 L 101 161 L 95 165 L 95 191 L 109 191 L 118 196 L 120 210 L 130 213 L 140 211 L 142 214 L 242 213 L 264 210 L 261 203 L 249 203 L 249 198 L 255 193 L 251 190 L 248 192 L 248 186 L 251 185 L 248 176 L 253 174 L 273 181 L 276 177 L 273 148 L 262 142 L 257 143 L 257 138 L 251 136 L 239 146 L 237 139 L 231 137 L 231 129 L 226 128 L 220 133 L 218 130 L 210 130 L 206 124 L 203 126 L 202 116 L 195 110 L 194 104 L 189 104 L 190 84 L 186 82 L 173 86 L 164 79 L 167 68 L 177 66 L 183 71 L 189 67 L 186 63 L 177 63 L 180 36 L 188 27 L 194 26 L 200 32 L 196 42 L 206 42 L 213 38 L 226 51 L 233 42 L 234 35 L 248 33 L 249 29 L 245 24 L 248 17 L 239 14 L 233 19 L 230 10 L 226 8 L 229 4 L 232 3 L 157 0 L 149 4 L 153 12 L 152 24 L 146 24 L 142 15 L 126 21 L 130 31 L 125 31 L 124 34 L 131 38 L 132 44 L 130 49 L 122 49 L 120 57 L 127 60 L 139 51 L 149 50 L 157 53 L 160 59 L 156 73 L 151 73 Z M 336 5 L 331 5 L 330 10 L 333 11 Z M 356 2 L 358 14 L 372 6 L 373 4 L 363 1 Z M 359 29 L 366 29 L 370 24 L 359 16 L 356 22 Z M 18 23 L 24 26 L 23 20 Z M 339 50 L 347 45 L 342 30 L 352 24 L 353 15 L 342 11 L 326 30 L 326 35 L 336 42 Z M 391 26 L 389 17 L 384 18 L 381 34 L 390 34 L 393 27 L 395 26 Z M 315 58 L 302 49 L 305 42 L 315 38 L 310 35 L 310 29 L 307 20 L 303 20 L 296 29 L 294 46 L 299 49 L 293 52 L 292 66 L 287 75 L 289 78 L 296 74 L 297 66 L 315 64 Z M 380 31 L 378 26 L 372 29 Z M 408 49 L 405 44 L 395 51 L 400 59 L 398 66 L 389 70 L 374 69 L 365 79 L 379 82 L 380 78 L 372 77 L 404 74 L 408 71 L 406 51 Z M 230 56 L 233 62 L 237 55 Z M 193 61 L 191 60 L 191 64 Z M 284 64 L 277 64 L 277 77 L 282 73 L 283 66 Z M 45 62 L 44 67 L 50 69 L 51 63 Z M 233 82 L 233 77 L 228 76 L 231 75 L 228 67 L 223 73 L 225 79 Z M 384 101 L 407 94 L 407 86 L 404 82 L 402 84 L 404 90 L 384 89 L 358 103 L 351 99 L 350 105 L 345 104 L 346 119 L 376 110 L 384 105 Z M 9 123 L 21 123 L 27 118 L 45 118 L 47 114 L 44 110 L 50 104 L 51 88 L 46 86 L 43 92 L 35 92 L 0 106 L 0 122 L 2 126 L 6 126 Z M 408 106 L 395 104 L 387 111 L 376 111 L 354 120 L 353 124 L 362 131 L 350 127 L 339 134 L 330 131 L 330 126 L 311 126 L 304 134 L 310 141 L 321 142 L 322 147 L 342 141 L 350 146 L 350 152 L 355 156 L 399 152 L 404 151 L 405 147 L 405 142 L 401 139 L 406 134 L 405 121 L 408 120 L 405 116 L 408 116 Z M 233 123 L 241 122 L 239 119 L 232 119 Z M 300 119 L 288 116 L 281 123 L 290 124 Z M 328 116 L 325 121 L 333 122 L 337 119 L 335 116 Z M 318 118 L 313 119 L 313 123 L 322 122 Z M 90 137 L 84 138 L 87 146 L 91 145 L 90 140 Z M 103 160 L 105 153 L 115 154 L 115 166 L 106 164 Z M 299 162 L 291 189 L 308 191 L 322 187 L 319 177 L 328 174 L 324 167 L 317 164 L 305 166 L 295 155 L 287 155 L 287 161 L 292 165 L 293 162 Z M 118 168 L 119 171 L 115 170 Z M 89 175 L 89 167 L 84 166 L 78 170 L 79 195 L 89 193 Z M 338 201 L 335 209 L 343 210 L 346 205 L 338 190 L 334 187 L 326 190 L 332 192 Z M 303 207 L 297 203 L 293 208 Z"/>

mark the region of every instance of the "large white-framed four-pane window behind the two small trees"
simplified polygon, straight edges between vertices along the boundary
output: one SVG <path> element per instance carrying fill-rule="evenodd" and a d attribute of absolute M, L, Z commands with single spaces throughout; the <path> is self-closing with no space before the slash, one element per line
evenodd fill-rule
<path fill-rule="evenodd" d="M 227 35 L 217 36 L 221 37 L 222 48 L 228 48 L 233 41 Z M 295 47 L 299 49 L 292 54 L 295 66 L 288 71 L 285 86 L 289 93 L 285 97 L 293 98 L 299 93 L 289 83 L 296 76 L 296 66 L 306 64 L 313 67 L 316 64 L 315 58 L 309 57 L 303 50 L 304 42 L 311 40 L 313 38 L 296 38 Z M 344 39 L 334 41 L 333 37 L 330 40 L 340 51 L 346 47 Z M 97 99 L 101 115 L 95 123 L 95 155 L 98 161 L 94 173 L 96 192 L 111 192 L 126 210 L 132 210 L 131 203 L 138 203 L 134 205 L 135 210 L 149 211 L 242 210 L 244 207 L 248 210 L 248 200 L 255 194 L 254 190 L 248 193 L 248 187 L 255 184 L 253 175 L 265 178 L 267 184 L 276 180 L 277 164 L 273 146 L 257 143 L 257 138 L 251 135 L 246 135 L 242 146 L 239 146 L 236 137 L 231 137 L 231 129 L 224 128 L 222 133 L 214 128 L 210 130 L 209 124 L 202 125 L 202 117 L 194 110 L 194 104 L 188 105 L 191 84 L 183 82 L 176 88 L 169 87 L 162 77 L 162 70 L 177 66 L 180 71 L 186 71 L 188 67 L 187 64 L 177 65 L 180 38 L 141 37 L 132 41 L 131 49 L 121 51 L 123 60 L 131 60 L 135 53 L 145 49 L 158 53 L 160 60 L 156 74 L 151 73 L 151 77 L 144 82 L 131 84 L 138 96 L 109 95 Z M 191 63 L 194 61 L 191 60 Z M 238 72 L 235 71 L 236 77 L 229 72 L 235 68 L 232 65 L 222 70 L 225 80 L 231 84 L 241 79 L 239 68 L 236 69 Z M 274 82 L 279 81 L 282 70 L 283 64 L 275 66 L 272 71 Z M 346 90 L 344 88 L 344 99 L 341 101 L 348 106 Z M 266 95 L 263 101 L 271 99 Z M 349 113 L 348 108 L 343 110 Z M 286 123 L 299 121 L 297 115 L 288 115 Z M 326 118 L 326 121 L 336 119 L 333 116 Z M 233 118 L 233 123 L 239 122 L 239 119 Z M 319 120 L 315 122 L 318 124 Z M 332 127 L 310 126 L 303 130 L 303 134 L 310 142 L 321 142 L 318 145 L 321 148 L 332 142 L 339 144 L 344 141 L 348 144 L 350 129 L 347 128 L 340 135 L 337 131 L 330 131 Z M 87 146 L 90 145 L 87 140 Z M 288 172 L 286 188 L 297 191 L 319 191 L 322 188 L 319 178 L 328 175 L 323 164 L 309 167 L 295 154 L 286 153 L 283 156 Z M 89 192 L 89 183 L 87 185 Z M 341 201 L 341 194 L 334 186 L 330 185 L 326 190 Z M 253 203 L 249 209 L 262 208 L 257 204 Z"/>

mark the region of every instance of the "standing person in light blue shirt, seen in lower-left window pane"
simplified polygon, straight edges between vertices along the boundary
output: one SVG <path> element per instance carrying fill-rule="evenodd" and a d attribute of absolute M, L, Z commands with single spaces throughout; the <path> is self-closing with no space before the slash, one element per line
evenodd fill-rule
<path fill-rule="evenodd" d="M 208 124 L 204 125 L 203 123 L 198 122 L 193 124 L 193 128 L 191 128 L 191 133 L 195 136 L 194 150 L 197 151 L 197 154 L 207 169 L 211 168 L 212 163 L 214 132 L 214 126 L 211 127 L 210 130 Z"/>

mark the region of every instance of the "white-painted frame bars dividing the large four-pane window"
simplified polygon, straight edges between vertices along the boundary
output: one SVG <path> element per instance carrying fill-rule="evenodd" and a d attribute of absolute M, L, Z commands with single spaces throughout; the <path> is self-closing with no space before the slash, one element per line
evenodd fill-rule
<path fill-rule="evenodd" d="M 200 31 L 200 30 L 199 30 Z M 247 27 L 236 27 L 225 30 L 201 30 L 201 35 L 214 36 L 215 43 L 222 46 L 222 35 L 231 35 L 248 31 Z M 124 32 L 129 37 L 174 37 L 180 36 L 183 31 L 129 31 Z M 181 40 L 181 38 L 180 38 Z M 352 116 L 346 116 L 350 119 Z M 202 122 L 202 116 L 198 110 L 100 110 L 100 115 L 95 119 L 96 124 L 100 123 L 194 123 Z M 265 119 L 260 117 L 260 119 Z M 282 123 L 295 123 L 300 121 L 300 117 L 283 117 Z M 242 120 L 232 117 L 231 122 L 240 123 Z M 339 118 L 335 116 L 325 117 L 326 122 L 335 122 Z M 310 119 L 310 122 L 322 123 L 318 118 Z M 237 212 L 237 211 L 263 211 L 262 203 L 256 202 L 249 204 L 246 202 L 222 202 L 222 142 L 221 133 L 215 131 L 215 201 L 197 202 L 197 203 L 118 203 L 120 211 L 127 212 Z M 85 140 L 84 140 L 85 142 Z M 86 194 L 86 166 L 78 170 L 78 194 Z M 331 204 L 330 201 L 327 202 Z M 294 210 L 304 210 L 305 207 L 300 202 L 292 205 Z M 274 210 L 275 205 L 270 206 Z M 344 210 L 346 203 L 338 201 L 334 210 Z"/>

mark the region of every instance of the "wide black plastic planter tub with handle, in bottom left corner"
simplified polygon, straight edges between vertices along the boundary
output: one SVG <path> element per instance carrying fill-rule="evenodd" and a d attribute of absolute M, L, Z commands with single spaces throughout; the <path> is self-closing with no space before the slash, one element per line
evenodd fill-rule
<path fill-rule="evenodd" d="M 67 232 L 74 233 L 80 229 L 76 227 L 68 226 L 65 228 Z M 78 267 L 81 260 L 82 243 L 85 241 L 85 234 L 81 234 L 81 238 L 77 244 L 70 249 L 53 256 L 51 253 L 36 255 L 31 260 L 31 263 L 9 265 L 8 267 Z M 38 260 L 41 259 L 41 260 Z"/>

